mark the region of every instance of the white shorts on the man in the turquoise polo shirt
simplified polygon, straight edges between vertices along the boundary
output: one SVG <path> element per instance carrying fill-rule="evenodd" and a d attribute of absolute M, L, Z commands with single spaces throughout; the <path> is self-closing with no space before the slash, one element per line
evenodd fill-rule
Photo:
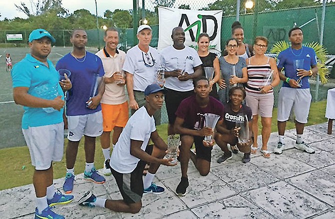
<path fill-rule="evenodd" d="M 64 123 L 22 129 L 35 170 L 47 170 L 52 161 L 61 161 L 64 150 Z"/>

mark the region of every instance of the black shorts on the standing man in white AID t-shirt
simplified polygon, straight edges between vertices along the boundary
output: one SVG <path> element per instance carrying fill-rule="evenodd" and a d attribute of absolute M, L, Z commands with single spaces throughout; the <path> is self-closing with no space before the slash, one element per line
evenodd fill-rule
<path fill-rule="evenodd" d="M 166 111 L 167 111 L 167 117 L 168 117 L 168 123 L 174 124 L 175 121 L 175 112 L 178 109 L 179 104 L 181 101 L 192 94 L 194 94 L 193 90 L 190 91 L 175 91 L 168 88 L 165 88 L 165 105 L 166 105 Z"/>

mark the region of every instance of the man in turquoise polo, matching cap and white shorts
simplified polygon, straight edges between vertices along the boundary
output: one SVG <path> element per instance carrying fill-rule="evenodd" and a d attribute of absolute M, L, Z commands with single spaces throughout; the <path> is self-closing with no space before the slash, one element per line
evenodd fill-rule
<path fill-rule="evenodd" d="M 49 32 L 33 30 L 29 35 L 30 54 L 11 71 L 13 98 L 23 106 L 22 132 L 35 167 L 35 219 L 64 219 L 50 207 L 73 200 L 73 196 L 56 192 L 53 185 L 52 161 L 61 161 L 64 147 L 63 91 L 72 85 L 69 79 L 59 81 L 59 74 L 47 59 L 51 42 L 55 39 Z"/>

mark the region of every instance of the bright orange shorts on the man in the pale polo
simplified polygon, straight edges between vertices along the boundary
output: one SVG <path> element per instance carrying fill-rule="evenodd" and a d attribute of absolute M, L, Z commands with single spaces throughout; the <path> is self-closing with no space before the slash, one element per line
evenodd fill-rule
<path fill-rule="evenodd" d="M 118 105 L 101 103 L 101 111 L 104 132 L 111 132 L 115 126 L 123 128 L 128 121 L 128 102 Z"/>

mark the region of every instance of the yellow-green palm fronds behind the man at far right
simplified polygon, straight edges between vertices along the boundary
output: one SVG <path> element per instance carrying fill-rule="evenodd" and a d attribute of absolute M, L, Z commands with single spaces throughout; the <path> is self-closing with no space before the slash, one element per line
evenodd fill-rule
<path fill-rule="evenodd" d="M 305 44 L 305 46 L 314 49 L 316 57 L 318 59 L 317 68 L 318 68 L 318 74 L 320 75 L 320 81 L 322 84 L 327 83 L 330 72 L 328 68 L 324 65 L 324 62 L 326 61 L 326 55 L 327 55 L 326 48 L 323 45 L 320 45 L 318 42 L 310 42 L 310 43 Z M 278 56 L 278 54 L 281 51 L 287 48 L 289 48 L 289 43 L 281 40 L 281 41 L 274 43 L 270 52 Z"/>

